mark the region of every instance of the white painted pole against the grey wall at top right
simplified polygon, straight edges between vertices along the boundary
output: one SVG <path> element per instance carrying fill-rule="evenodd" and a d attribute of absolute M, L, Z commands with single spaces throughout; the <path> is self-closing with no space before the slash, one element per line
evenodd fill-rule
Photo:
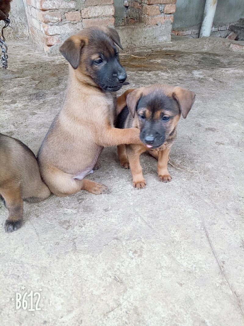
<path fill-rule="evenodd" d="M 206 0 L 199 37 L 210 36 L 218 0 Z"/>

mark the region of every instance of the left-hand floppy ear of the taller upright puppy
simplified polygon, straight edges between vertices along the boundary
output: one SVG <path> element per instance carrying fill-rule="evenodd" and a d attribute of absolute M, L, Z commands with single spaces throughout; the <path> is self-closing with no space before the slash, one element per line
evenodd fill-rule
<path fill-rule="evenodd" d="M 60 52 L 74 69 L 80 63 L 81 50 L 88 40 L 86 38 L 73 35 L 69 37 L 60 47 Z"/>

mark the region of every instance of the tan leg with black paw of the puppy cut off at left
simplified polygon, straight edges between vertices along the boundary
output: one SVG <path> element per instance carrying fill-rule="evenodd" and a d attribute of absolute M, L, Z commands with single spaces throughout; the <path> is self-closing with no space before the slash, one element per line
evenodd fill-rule
<path fill-rule="evenodd" d="M 7 233 L 18 230 L 23 223 L 23 200 L 21 198 L 20 185 L 9 181 L 0 188 L 0 195 L 8 209 L 8 219 L 5 221 Z"/>

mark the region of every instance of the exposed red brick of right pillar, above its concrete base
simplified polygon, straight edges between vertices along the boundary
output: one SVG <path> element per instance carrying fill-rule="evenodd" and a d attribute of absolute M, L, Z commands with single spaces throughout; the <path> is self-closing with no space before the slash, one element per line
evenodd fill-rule
<path fill-rule="evenodd" d="M 124 0 L 127 7 L 125 22 L 160 25 L 173 23 L 176 0 Z"/>

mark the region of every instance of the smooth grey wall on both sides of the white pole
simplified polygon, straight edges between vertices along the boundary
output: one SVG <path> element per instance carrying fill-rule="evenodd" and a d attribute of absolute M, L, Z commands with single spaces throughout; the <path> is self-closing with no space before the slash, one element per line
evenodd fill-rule
<path fill-rule="evenodd" d="M 183 28 L 202 22 L 204 0 L 177 0 L 173 28 Z M 213 25 L 235 22 L 244 17 L 244 0 L 218 0 Z"/>

